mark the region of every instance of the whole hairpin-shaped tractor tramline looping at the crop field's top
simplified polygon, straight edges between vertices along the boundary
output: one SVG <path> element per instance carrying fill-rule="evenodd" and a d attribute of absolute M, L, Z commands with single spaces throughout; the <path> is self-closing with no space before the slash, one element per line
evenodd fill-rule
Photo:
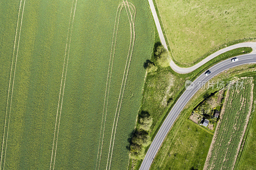
<path fill-rule="evenodd" d="M 111 164 L 111 159 L 112 159 L 112 154 L 113 154 L 113 147 L 114 147 L 114 140 L 115 140 L 115 135 L 116 135 L 117 122 L 118 122 L 118 117 L 119 117 L 119 113 L 120 113 L 120 109 L 121 109 L 121 104 L 122 104 L 122 100 L 123 100 L 123 96 L 124 96 L 126 80 L 127 80 L 127 76 L 128 76 L 128 71 L 129 71 L 129 67 L 130 67 L 130 63 L 131 63 L 131 58 L 132 58 L 132 51 L 133 51 L 133 47 L 134 47 L 134 41 L 135 41 L 134 20 L 135 20 L 135 15 L 136 15 L 136 9 L 135 9 L 135 6 L 132 3 L 127 2 L 127 0 L 126 1 L 123 0 L 123 2 L 121 4 L 119 4 L 119 6 L 117 7 L 117 12 L 116 12 L 116 20 L 115 20 L 113 39 L 112 39 L 112 46 L 111 46 L 111 52 L 110 52 L 110 59 L 109 59 L 108 77 L 107 77 L 107 83 L 106 83 L 106 92 L 105 92 L 105 98 L 104 98 L 104 107 L 103 107 L 103 113 L 102 113 L 102 123 L 101 123 L 101 131 L 100 131 L 100 142 L 99 142 L 98 156 L 97 156 L 97 161 L 96 161 L 96 169 L 97 169 L 97 167 L 98 167 L 98 169 L 100 169 L 100 161 L 101 161 L 101 156 L 102 156 L 102 147 L 103 147 L 105 125 L 106 125 L 106 118 L 107 118 L 110 82 L 111 82 L 113 63 L 114 63 L 114 57 L 115 57 L 115 50 L 116 50 L 116 41 L 117 41 L 117 33 L 118 33 L 119 20 L 120 20 L 120 15 L 121 15 L 121 11 L 122 11 L 123 7 L 125 7 L 125 11 L 126 11 L 126 14 L 128 16 L 128 19 L 129 19 L 131 38 L 130 38 L 130 45 L 129 45 L 129 50 L 128 50 L 128 54 L 127 54 L 127 59 L 126 59 L 126 64 L 125 64 L 125 69 L 124 69 L 124 75 L 123 75 L 123 79 L 122 79 L 121 89 L 120 89 L 119 98 L 118 98 L 118 101 L 117 101 L 116 113 L 115 113 L 115 118 L 114 118 L 113 127 L 112 127 L 112 133 L 111 133 L 111 137 L 110 137 L 110 144 L 109 144 L 109 149 L 108 149 L 108 160 L 107 160 L 106 170 L 108 169 L 108 166 L 109 166 L 109 169 L 110 169 L 110 164 Z M 114 37 L 115 37 L 115 43 L 114 43 Z M 130 56 L 130 58 L 129 58 L 129 56 Z M 111 61 L 111 59 L 112 59 L 112 61 Z M 111 70 L 110 70 L 110 65 L 111 65 Z M 110 70 L 110 73 L 109 73 L 109 70 Z M 107 91 L 108 91 L 108 94 L 107 94 Z M 119 106 L 119 109 L 118 109 L 118 106 Z M 103 132 L 102 132 L 104 114 L 105 114 L 105 120 L 104 120 Z M 115 126 L 115 124 L 116 124 L 116 126 Z M 114 132 L 114 127 L 115 127 L 115 132 Z M 114 136 L 113 136 L 113 132 L 114 132 Z M 113 138 L 113 141 L 112 141 L 112 138 Z M 100 143 L 101 143 L 101 149 L 100 149 Z M 111 156 L 110 156 L 111 144 L 112 144 L 112 151 L 111 151 Z M 110 157 L 110 160 L 109 160 L 109 157 Z M 98 162 L 99 162 L 99 165 L 98 165 Z M 109 163 L 109 165 L 108 165 L 108 163 Z"/>

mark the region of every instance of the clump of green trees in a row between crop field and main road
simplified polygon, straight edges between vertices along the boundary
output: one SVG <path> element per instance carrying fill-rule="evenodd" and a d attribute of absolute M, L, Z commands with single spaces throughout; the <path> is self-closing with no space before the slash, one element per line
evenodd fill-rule
<path fill-rule="evenodd" d="M 130 156 L 140 160 L 144 158 L 145 149 L 151 143 L 150 127 L 153 120 L 148 112 L 141 111 L 138 122 L 138 127 L 134 130 L 130 141 Z"/>

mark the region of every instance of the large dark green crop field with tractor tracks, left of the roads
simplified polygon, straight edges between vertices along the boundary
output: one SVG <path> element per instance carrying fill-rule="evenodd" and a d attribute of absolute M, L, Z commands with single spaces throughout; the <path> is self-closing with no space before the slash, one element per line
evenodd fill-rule
<path fill-rule="evenodd" d="M 0 169 L 126 169 L 148 2 L 2 0 L 0 13 Z"/>

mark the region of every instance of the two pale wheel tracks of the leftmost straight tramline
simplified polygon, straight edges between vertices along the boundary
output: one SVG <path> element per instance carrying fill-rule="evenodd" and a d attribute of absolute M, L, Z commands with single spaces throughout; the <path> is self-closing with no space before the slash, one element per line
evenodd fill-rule
<path fill-rule="evenodd" d="M 23 9 L 22 9 L 22 14 L 21 14 L 20 31 L 21 31 L 21 26 L 22 26 L 22 19 L 23 19 L 23 12 L 24 12 L 24 7 L 25 7 L 25 1 L 26 1 L 26 0 L 24 0 Z M 7 97 L 6 112 L 5 112 L 4 134 L 3 134 L 3 144 L 2 144 L 2 152 L 1 152 L 0 169 L 2 168 L 2 158 L 3 158 L 3 148 L 4 148 L 4 136 L 5 136 L 5 126 L 6 126 L 6 118 L 7 118 L 7 108 L 8 108 L 8 100 L 9 100 L 9 92 L 10 92 L 11 78 L 12 78 L 12 67 L 13 67 L 14 52 L 15 52 L 15 46 L 16 46 L 16 40 L 17 40 L 16 38 L 17 38 L 18 25 L 19 25 L 19 19 L 20 19 L 21 2 L 22 2 L 22 0 L 20 0 L 18 21 L 17 21 L 16 33 L 15 33 L 15 39 L 14 39 L 14 47 L 13 47 L 13 53 L 12 53 L 12 65 L 11 65 L 10 80 L 9 80 L 9 88 L 8 88 L 8 97 Z M 12 92 L 13 92 L 13 85 L 14 85 L 14 78 L 15 78 L 15 71 L 16 71 L 16 63 L 17 63 L 17 58 L 18 58 L 19 44 L 20 44 L 20 33 L 19 33 L 18 46 L 17 46 L 17 52 L 16 52 L 16 60 L 15 60 L 14 73 L 13 73 Z M 10 110 L 9 110 L 9 116 L 8 116 L 8 126 L 7 126 L 7 134 L 6 134 L 6 141 L 5 141 L 4 165 L 5 165 L 5 155 L 6 155 L 6 148 L 7 148 L 7 139 L 8 139 L 9 124 L 10 124 L 11 107 L 12 107 L 12 92 L 11 92 Z M 4 169 L 4 165 L 3 165 L 3 169 Z"/>

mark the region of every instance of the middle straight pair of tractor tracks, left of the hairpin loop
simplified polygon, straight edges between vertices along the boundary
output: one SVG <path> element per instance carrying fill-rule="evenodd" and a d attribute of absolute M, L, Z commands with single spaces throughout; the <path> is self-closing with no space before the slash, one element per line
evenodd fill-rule
<path fill-rule="evenodd" d="M 77 4 L 77 0 L 76 0 L 76 4 Z M 65 82 L 66 82 L 66 76 L 67 76 L 67 70 L 68 70 L 68 58 L 69 58 L 69 50 L 70 50 L 71 35 L 72 35 L 72 30 L 73 30 L 73 23 L 74 23 L 75 12 L 76 12 L 76 4 L 75 4 L 74 11 L 73 11 L 73 6 L 74 6 L 74 0 L 73 0 L 73 2 L 72 2 L 72 7 L 71 7 L 71 12 L 70 12 L 69 24 L 68 24 L 67 42 L 66 42 L 65 56 L 64 56 L 64 63 L 63 63 L 63 70 L 62 70 L 62 77 L 61 77 L 61 83 L 60 83 L 60 94 L 59 94 L 59 101 L 58 101 L 58 107 L 57 107 L 57 114 L 56 114 L 56 121 L 55 121 L 54 136 L 53 136 L 53 144 L 52 144 L 52 155 L 51 155 L 50 170 L 51 170 L 51 169 L 54 169 L 54 166 L 55 166 L 55 158 L 56 158 L 56 151 L 57 151 L 57 142 L 58 142 L 59 128 L 60 128 L 60 116 L 61 116 L 61 111 L 62 111 L 62 103 L 63 103 L 63 96 L 64 96 L 64 88 L 65 88 Z M 72 20 L 72 25 L 71 25 L 71 29 L 70 29 L 70 22 L 71 22 L 72 13 L 73 13 L 73 20 Z M 70 35 L 69 35 L 69 30 L 70 30 Z M 68 44 L 68 38 L 69 38 L 69 44 Z M 68 57 L 67 57 L 67 63 L 65 63 L 65 62 L 66 62 L 66 56 L 67 56 L 67 47 L 68 47 Z M 65 65 L 66 65 L 66 68 L 65 68 Z M 65 71 L 64 71 L 64 69 L 65 69 Z M 63 81 L 64 72 L 65 72 L 65 77 L 64 77 L 64 81 Z M 64 82 L 63 88 L 62 88 L 62 82 Z M 61 95 L 61 92 L 62 92 L 62 95 Z M 60 98 L 61 98 L 61 104 L 60 104 Z M 59 114 L 59 116 L 58 116 L 59 108 L 60 108 L 60 114 Z M 58 120 L 58 118 L 59 118 L 58 130 L 57 130 L 57 137 L 56 137 L 56 139 L 55 139 L 55 136 L 56 136 L 56 127 L 57 127 L 57 120 Z M 56 142 L 55 142 L 55 140 L 56 140 Z M 55 149 L 54 149 L 54 143 L 55 143 Z M 53 159 L 53 162 L 52 162 L 53 152 L 54 152 L 54 159 Z M 52 163 L 53 163 L 53 165 L 52 165 Z"/>

